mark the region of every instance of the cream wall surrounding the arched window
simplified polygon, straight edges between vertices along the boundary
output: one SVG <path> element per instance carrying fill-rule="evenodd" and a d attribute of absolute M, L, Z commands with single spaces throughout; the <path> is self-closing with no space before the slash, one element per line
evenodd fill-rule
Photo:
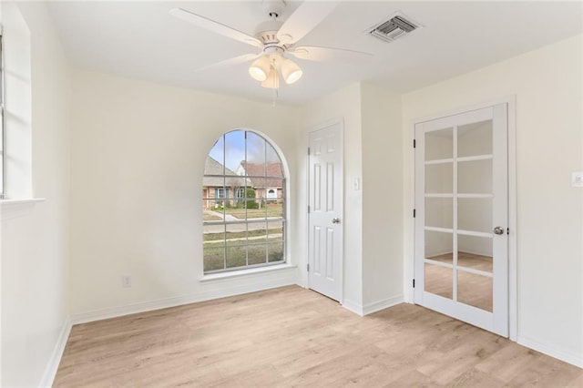
<path fill-rule="evenodd" d="M 201 185 L 220 136 L 271 138 L 297 183 L 295 107 L 77 71 L 71 156 L 74 321 L 292 284 L 297 269 L 202 277 Z M 296 199 L 289 200 L 294 229 Z M 293 235 L 292 235 L 293 236 Z M 296 241 L 289 259 L 299 259 Z M 122 288 L 122 275 L 132 287 Z"/>

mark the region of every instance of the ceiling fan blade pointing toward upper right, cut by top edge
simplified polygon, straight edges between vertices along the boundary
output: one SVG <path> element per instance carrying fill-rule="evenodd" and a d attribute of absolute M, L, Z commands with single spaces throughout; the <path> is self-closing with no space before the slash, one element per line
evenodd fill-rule
<path fill-rule="evenodd" d="M 304 1 L 295 12 L 288 17 L 277 32 L 281 42 L 292 44 L 306 36 L 315 26 L 318 26 L 326 16 L 338 5 L 336 1 L 309 2 Z"/>

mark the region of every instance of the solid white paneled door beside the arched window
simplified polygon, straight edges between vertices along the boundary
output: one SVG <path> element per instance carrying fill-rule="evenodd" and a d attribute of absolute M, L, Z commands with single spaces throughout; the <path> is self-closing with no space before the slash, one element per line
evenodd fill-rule
<path fill-rule="evenodd" d="M 309 137 L 308 283 L 335 301 L 343 292 L 343 141 L 340 123 Z"/>

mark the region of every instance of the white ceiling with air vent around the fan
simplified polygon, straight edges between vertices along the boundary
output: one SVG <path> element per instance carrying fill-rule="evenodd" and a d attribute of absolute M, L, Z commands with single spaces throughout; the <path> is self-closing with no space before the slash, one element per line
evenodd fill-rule
<path fill-rule="evenodd" d="M 288 1 L 286 19 L 300 5 Z M 180 6 L 253 35 L 266 20 L 261 1 L 48 3 L 66 53 L 79 67 L 253 99 L 271 100 L 248 64 L 196 71 L 253 47 L 169 15 Z M 303 77 L 281 87 L 299 104 L 358 80 L 407 92 L 583 31 L 583 2 L 343 1 L 300 45 L 372 53 L 360 65 L 297 59 Z M 400 11 L 424 26 L 387 44 L 365 31 Z"/>

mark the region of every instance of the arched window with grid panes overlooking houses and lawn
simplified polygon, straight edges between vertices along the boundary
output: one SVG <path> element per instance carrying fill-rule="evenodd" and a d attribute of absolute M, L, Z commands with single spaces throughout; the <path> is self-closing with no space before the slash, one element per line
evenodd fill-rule
<path fill-rule="evenodd" d="M 265 138 L 234 130 L 217 140 L 202 182 L 205 273 L 285 262 L 285 185 Z"/>

